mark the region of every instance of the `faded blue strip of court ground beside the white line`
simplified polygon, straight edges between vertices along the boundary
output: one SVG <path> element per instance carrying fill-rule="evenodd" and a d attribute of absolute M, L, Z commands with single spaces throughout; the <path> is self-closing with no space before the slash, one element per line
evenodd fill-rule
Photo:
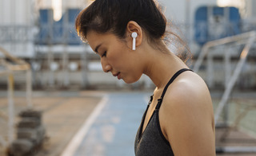
<path fill-rule="evenodd" d="M 110 93 L 73 156 L 131 156 L 150 94 Z"/>

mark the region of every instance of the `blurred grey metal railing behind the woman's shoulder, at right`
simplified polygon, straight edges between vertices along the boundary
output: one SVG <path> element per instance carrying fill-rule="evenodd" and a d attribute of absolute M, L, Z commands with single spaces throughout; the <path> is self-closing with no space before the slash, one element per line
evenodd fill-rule
<path fill-rule="evenodd" d="M 206 69 L 207 70 L 206 71 L 207 78 L 206 78 L 206 81 L 209 85 L 212 85 L 214 69 L 213 69 L 212 56 L 209 55 L 210 48 L 218 46 L 218 45 L 226 45 L 226 44 L 231 44 L 231 43 L 234 43 L 236 45 L 246 45 L 242 49 L 242 53 L 240 54 L 238 64 L 236 65 L 232 76 L 230 76 L 230 64 L 229 64 L 230 50 L 228 50 L 228 51 L 226 51 L 226 53 L 224 53 L 224 55 L 226 57 L 225 58 L 225 64 L 226 64 L 225 73 L 226 73 L 226 83 L 227 84 L 225 86 L 225 92 L 222 95 L 222 99 L 216 109 L 216 113 L 215 113 L 215 121 L 216 122 L 218 121 L 218 118 L 223 110 L 223 107 L 225 106 L 225 104 L 230 96 L 230 92 L 234 88 L 234 84 L 235 84 L 236 80 L 238 80 L 238 76 L 241 73 L 242 66 L 246 62 L 246 58 L 248 56 L 248 53 L 250 52 L 250 48 L 253 45 L 255 39 L 256 39 L 256 31 L 251 31 L 248 33 L 242 33 L 242 34 L 236 35 L 234 37 L 226 37 L 226 38 L 222 38 L 222 39 L 216 40 L 216 41 L 209 41 L 206 43 L 206 45 L 204 45 L 202 47 L 202 52 L 199 54 L 198 60 L 194 64 L 193 70 L 194 70 L 194 72 L 198 72 L 198 70 L 202 64 L 202 61 L 207 56 L 207 67 L 206 67 L 207 68 Z"/>

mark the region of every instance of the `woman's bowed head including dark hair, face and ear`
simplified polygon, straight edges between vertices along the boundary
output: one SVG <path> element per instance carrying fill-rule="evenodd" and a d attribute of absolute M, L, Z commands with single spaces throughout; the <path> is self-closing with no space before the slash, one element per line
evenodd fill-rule
<path fill-rule="evenodd" d="M 95 0 L 78 14 L 75 27 L 101 57 L 103 71 L 130 84 L 146 74 L 147 45 L 162 41 L 166 18 L 154 0 Z M 135 47 L 134 32 L 138 33 Z"/>

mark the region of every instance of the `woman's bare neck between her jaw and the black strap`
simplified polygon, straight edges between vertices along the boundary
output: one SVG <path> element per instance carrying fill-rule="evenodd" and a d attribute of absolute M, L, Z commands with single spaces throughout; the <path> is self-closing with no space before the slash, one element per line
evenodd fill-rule
<path fill-rule="evenodd" d="M 167 49 L 168 50 L 168 49 Z M 154 50 L 146 65 L 144 74 L 149 76 L 158 89 L 164 88 L 170 78 L 174 76 L 181 68 L 187 68 L 186 64 L 182 62 L 174 53 L 162 53 L 159 50 Z"/>

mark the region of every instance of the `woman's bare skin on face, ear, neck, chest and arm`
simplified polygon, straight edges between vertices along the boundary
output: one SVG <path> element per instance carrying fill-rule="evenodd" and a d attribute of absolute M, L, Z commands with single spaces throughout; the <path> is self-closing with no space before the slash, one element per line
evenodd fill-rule
<path fill-rule="evenodd" d="M 132 50 L 132 37 L 136 32 L 136 50 Z M 166 48 L 153 47 L 146 33 L 135 21 L 126 27 L 126 37 L 119 39 L 113 33 L 97 33 L 90 30 L 86 39 L 101 57 L 104 72 L 134 83 L 146 74 L 156 85 L 154 99 L 146 113 L 143 131 L 154 112 L 170 77 L 186 64 Z M 215 155 L 214 112 L 210 92 L 204 80 L 194 72 L 183 72 L 167 89 L 159 110 L 160 127 L 175 156 Z"/>

